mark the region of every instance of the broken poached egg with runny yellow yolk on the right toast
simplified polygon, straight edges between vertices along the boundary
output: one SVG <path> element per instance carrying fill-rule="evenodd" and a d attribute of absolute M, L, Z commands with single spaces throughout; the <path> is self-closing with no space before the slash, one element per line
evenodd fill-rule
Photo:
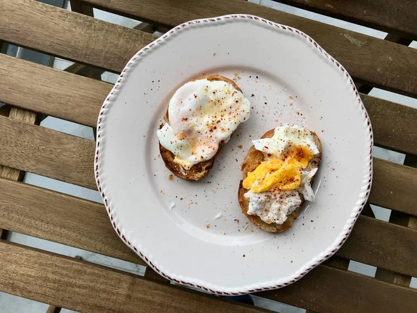
<path fill-rule="evenodd" d="M 311 168 L 309 162 L 320 151 L 311 131 L 290 124 L 275 128 L 271 138 L 252 143 L 263 152 L 265 161 L 243 181 L 243 187 L 250 189 L 244 195 L 249 200 L 247 214 L 268 224 L 283 224 L 300 206 L 300 193 L 304 200 L 315 200 L 311 179 L 318 168 Z"/>

